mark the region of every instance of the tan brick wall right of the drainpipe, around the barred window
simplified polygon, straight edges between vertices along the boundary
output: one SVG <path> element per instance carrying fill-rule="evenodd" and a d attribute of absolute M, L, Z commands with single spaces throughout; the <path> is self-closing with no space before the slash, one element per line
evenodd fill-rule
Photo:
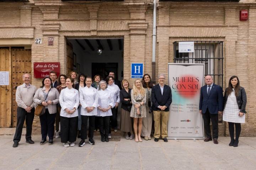
<path fill-rule="evenodd" d="M 243 1 L 249 2 L 256 5 L 255 1 Z M 239 21 L 241 9 L 250 11 L 248 21 Z M 169 62 L 173 62 L 174 41 L 224 41 L 223 89 L 229 78 L 237 75 L 247 92 L 246 123 L 242 124 L 241 136 L 256 136 L 256 112 L 253 109 L 256 94 L 250 92 L 255 85 L 256 73 L 255 57 L 252 57 L 256 47 L 255 15 L 255 7 L 236 6 L 234 3 L 161 2 L 158 5 L 158 67 L 166 61 L 166 56 Z M 166 68 L 162 72 L 167 72 Z M 219 124 L 219 135 L 229 135 L 227 123 Z"/>

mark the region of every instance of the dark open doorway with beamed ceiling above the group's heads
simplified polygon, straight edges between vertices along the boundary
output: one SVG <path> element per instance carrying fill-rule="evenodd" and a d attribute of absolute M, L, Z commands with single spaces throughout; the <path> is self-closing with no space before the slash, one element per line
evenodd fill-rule
<path fill-rule="evenodd" d="M 67 38 L 72 48 L 73 70 L 92 78 L 99 74 L 105 79 L 110 71 L 123 79 L 123 38 Z M 68 46 L 67 46 L 68 47 Z M 101 53 L 98 50 L 101 49 Z M 67 48 L 67 54 L 70 50 Z M 69 63 L 69 62 L 68 62 Z"/>

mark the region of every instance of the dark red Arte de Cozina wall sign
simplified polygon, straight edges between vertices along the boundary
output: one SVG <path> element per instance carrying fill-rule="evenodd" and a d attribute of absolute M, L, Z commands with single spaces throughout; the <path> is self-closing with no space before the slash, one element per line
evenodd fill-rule
<path fill-rule="evenodd" d="M 59 62 L 35 62 L 34 63 L 34 78 L 44 78 L 50 76 L 50 72 L 54 71 L 57 76 L 60 74 Z"/>

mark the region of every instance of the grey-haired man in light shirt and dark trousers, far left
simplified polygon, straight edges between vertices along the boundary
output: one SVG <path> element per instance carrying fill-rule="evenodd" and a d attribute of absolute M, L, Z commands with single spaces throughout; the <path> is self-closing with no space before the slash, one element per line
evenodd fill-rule
<path fill-rule="evenodd" d="M 34 120 L 34 102 L 33 97 L 36 93 L 36 87 L 30 84 L 30 74 L 23 74 L 23 84 L 17 87 L 16 90 L 16 102 L 17 107 L 17 125 L 14 135 L 14 144 L 12 147 L 16 148 L 18 142 L 21 140 L 22 128 L 24 121 L 26 120 L 26 142 L 33 144 L 31 139 L 32 123 Z"/>

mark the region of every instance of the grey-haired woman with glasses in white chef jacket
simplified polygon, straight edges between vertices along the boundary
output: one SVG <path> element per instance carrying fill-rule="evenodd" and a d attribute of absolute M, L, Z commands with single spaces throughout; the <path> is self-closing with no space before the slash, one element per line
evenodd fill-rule
<path fill-rule="evenodd" d="M 112 92 L 107 89 L 106 81 L 100 81 L 98 86 L 98 117 L 100 124 L 101 142 L 108 142 L 108 131 L 110 129 L 110 116 L 112 116 L 111 108 L 116 106 Z"/>

